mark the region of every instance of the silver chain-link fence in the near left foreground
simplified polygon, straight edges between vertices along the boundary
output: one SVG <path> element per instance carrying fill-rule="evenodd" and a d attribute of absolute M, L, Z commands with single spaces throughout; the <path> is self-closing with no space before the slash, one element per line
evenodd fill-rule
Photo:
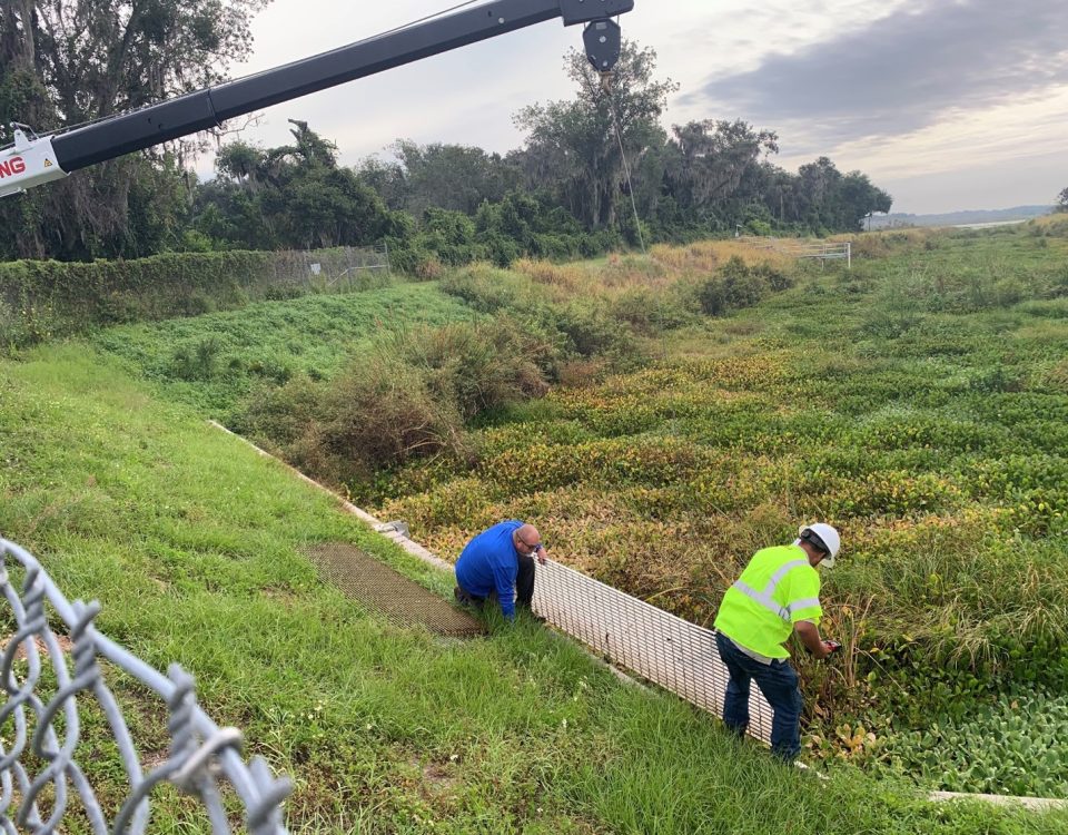
<path fill-rule="evenodd" d="M 217 835 L 241 826 L 253 835 L 286 832 L 281 802 L 291 790 L 289 780 L 275 779 L 259 757 L 250 763 L 241 758 L 240 731 L 218 727 L 204 713 L 192 678 L 180 667 L 171 665 L 164 676 L 100 635 L 92 622 L 99 603 L 69 602 L 29 552 L 4 539 L 0 591 L 8 602 L 0 610 L 0 623 L 7 627 L 0 656 L 6 696 L 0 709 L 0 829 L 144 833 L 150 795 L 166 783 L 198 798 Z M 166 709 L 169 750 L 152 756 L 147 773 L 101 662 L 132 677 Z M 91 737 L 88 752 L 79 744 L 83 729 Z M 113 767 L 102 767 L 96 747 L 101 737 L 117 749 L 119 777 Z M 154 748 L 158 743 L 149 741 Z M 105 775 L 96 786 L 97 778 L 90 779 L 79 758 L 93 762 L 91 775 Z M 109 799 L 101 803 L 100 797 Z"/>

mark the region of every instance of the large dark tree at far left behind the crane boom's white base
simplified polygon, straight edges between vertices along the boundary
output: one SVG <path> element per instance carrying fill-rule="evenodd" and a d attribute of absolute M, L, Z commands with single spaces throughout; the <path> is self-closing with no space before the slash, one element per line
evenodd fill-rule
<path fill-rule="evenodd" d="M 249 19 L 267 2 L 0 0 L 0 125 L 52 131 L 217 84 L 248 53 Z M 111 160 L 0 203 L 0 226 L 14 233 L 0 255 L 137 256 L 168 246 L 186 210 L 175 196 L 190 147 Z M 155 223 L 141 223 L 146 208 Z"/>

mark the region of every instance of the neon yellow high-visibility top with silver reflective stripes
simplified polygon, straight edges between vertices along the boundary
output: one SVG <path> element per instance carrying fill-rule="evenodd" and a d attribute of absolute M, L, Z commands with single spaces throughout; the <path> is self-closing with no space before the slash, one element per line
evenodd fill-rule
<path fill-rule="evenodd" d="M 764 548 L 723 596 L 715 628 L 768 658 L 789 658 L 782 645 L 799 620 L 819 623 L 820 572 L 800 546 Z"/>

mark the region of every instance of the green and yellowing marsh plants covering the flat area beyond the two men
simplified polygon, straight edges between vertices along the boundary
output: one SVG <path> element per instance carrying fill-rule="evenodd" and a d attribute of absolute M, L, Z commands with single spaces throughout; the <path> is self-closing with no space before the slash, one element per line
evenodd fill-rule
<path fill-rule="evenodd" d="M 830 736 L 846 718 L 881 738 L 1057 687 L 1064 242 L 916 243 L 669 336 L 657 367 L 516 410 L 482 433 L 473 468 L 414 468 L 382 513 L 443 552 L 493 519 L 537 519 L 562 559 L 699 622 L 754 548 L 830 517 L 849 549 L 827 576 L 825 626 L 849 654 L 808 670 Z M 516 468 L 531 478 L 508 479 Z M 1057 734 L 955 736 L 937 756 L 921 737 L 906 766 L 947 788 L 1064 796 Z"/>

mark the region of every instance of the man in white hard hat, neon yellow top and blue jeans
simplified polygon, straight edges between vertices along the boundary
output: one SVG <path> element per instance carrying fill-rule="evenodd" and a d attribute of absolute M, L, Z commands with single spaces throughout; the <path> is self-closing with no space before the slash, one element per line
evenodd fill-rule
<path fill-rule="evenodd" d="M 797 633 L 817 658 L 838 645 L 818 628 L 821 562 L 833 566 L 841 548 L 838 531 L 818 522 L 803 525 L 792 546 L 764 548 L 723 596 L 715 618 L 715 645 L 730 672 L 723 721 L 739 736 L 749 727 L 749 689 L 755 681 L 773 711 L 771 749 L 792 762 L 801 753 L 801 689 L 783 644 Z"/>

